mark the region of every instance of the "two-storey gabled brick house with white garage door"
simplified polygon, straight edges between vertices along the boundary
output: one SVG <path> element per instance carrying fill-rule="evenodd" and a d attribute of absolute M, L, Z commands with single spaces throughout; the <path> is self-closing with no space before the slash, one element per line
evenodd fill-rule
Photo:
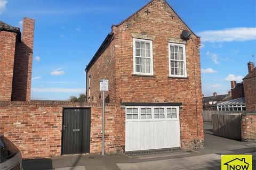
<path fill-rule="evenodd" d="M 191 33 L 190 39 L 182 31 Z M 88 103 L 115 105 L 125 151 L 203 147 L 200 38 L 164 0 L 111 27 L 86 66 Z M 108 131 L 108 129 L 106 129 Z"/>

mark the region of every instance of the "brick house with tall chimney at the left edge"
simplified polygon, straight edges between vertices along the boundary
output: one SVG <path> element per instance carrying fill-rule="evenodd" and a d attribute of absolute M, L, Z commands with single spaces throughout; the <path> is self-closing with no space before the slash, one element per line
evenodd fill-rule
<path fill-rule="evenodd" d="M 0 101 L 29 101 L 34 45 L 34 20 L 20 29 L 0 21 Z"/>

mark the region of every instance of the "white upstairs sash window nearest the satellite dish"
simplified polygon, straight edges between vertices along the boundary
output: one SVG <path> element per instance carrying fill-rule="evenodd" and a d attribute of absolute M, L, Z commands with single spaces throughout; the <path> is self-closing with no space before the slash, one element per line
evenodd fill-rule
<path fill-rule="evenodd" d="M 169 43 L 169 76 L 187 77 L 186 49 L 183 44 Z"/>

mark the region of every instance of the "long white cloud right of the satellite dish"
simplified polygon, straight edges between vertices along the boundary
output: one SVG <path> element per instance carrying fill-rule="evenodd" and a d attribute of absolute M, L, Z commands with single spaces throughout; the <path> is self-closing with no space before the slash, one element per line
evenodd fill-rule
<path fill-rule="evenodd" d="M 223 30 L 208 30 L 198 33 L 203 43 L 231 42 L 256 40 L 256 28 L 227 28 Z"/>

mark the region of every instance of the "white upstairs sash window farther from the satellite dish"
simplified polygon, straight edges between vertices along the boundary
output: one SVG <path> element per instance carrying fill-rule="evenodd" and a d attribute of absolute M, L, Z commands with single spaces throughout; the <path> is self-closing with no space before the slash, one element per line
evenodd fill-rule
<path fill-rule="evenodd" d="M 133 39 L 133 73 L 153 75 L 152 41 Z"/>

